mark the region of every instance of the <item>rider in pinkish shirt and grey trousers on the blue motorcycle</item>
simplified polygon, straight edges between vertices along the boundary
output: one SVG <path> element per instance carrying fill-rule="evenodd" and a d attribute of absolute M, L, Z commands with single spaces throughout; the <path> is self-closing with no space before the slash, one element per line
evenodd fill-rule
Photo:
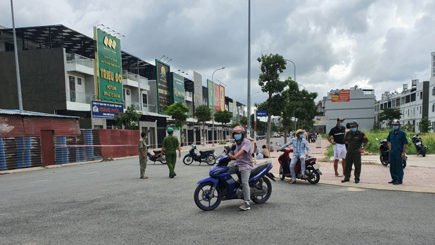
<path fill-rule="evenodd" d="M 234 140 L 236 141 L 236 149 L 231 150 L 228 154 L 229 158 L 236 159 L 235 162 L 229 165 L 229 174 L 240 172 L 243 189 L 243 205 L 239 208 L 242 210 L 249 210 L 251 206 L 251 190 L 249 188 L 249 176 L 251 175 L 254 164 L 251 156 L 251 142 L 245 138 L 245 129 L 241 126 L 236 126 L 231 132 Z"/>

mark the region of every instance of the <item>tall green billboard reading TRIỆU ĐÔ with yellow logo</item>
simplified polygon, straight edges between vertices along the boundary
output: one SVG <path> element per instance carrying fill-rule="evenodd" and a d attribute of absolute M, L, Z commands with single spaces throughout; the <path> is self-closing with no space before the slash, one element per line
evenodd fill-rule
<path fill-rule="evenodd" d="M 95 47 L 95 88 L 101 101 L 124 103 L 121 67 L 121 40 L 93 28 Z"/>

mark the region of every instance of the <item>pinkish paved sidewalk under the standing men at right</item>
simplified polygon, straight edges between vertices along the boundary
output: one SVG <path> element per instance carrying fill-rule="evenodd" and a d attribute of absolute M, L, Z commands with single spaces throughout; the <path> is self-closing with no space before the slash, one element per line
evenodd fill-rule
<path fill-rule="evenodd" d="M 326 161 L 323 159 L 325 157 L 323 153 L 326 152 L 328 145 L 329 142 L 326 140 L 322 140 L 321 148 L 315 148 L 316 144 L 309 144 L 311 155 L 317 157 L 317 163 L 320 165 L 320 171 L 323 173 L 323 175 L 320 176 L 319 183 L 321 184 L 435 193 L 435 155 L 427 155 L 426 157 L 409 155 L 407 166 L 404 169 L 403 184 L 398 186 L 388 184 L 388 182 L 391 181 L 390 165 L 387 167 L 383 166 L 380 163 L 379 155 L 362 156 L 361 182 L 359 184 L 353 182 L 341 183 L 344 177 L 336 177 L 334 175 L 334 162 L 330 161 L 330 159 Z M 280 154 L 281 152 L 272 152 L 270 158 L 273 163 L 271 172 L 276 176 L 279 176 L 278 156 Z M 339 163 L 338 172 L 342 173 L 341 162 Z M 351 180 L 353 180 L 353 177 L 351 177 Z M 298 180 L 298 182 L 303 183 L 305 181 Z"/>

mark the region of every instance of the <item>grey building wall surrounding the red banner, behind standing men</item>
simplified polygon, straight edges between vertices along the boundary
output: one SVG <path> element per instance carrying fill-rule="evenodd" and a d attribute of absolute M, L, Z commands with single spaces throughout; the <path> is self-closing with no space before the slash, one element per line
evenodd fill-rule
<path fill-rule="evenodd" d="M 359 130 L 371 130 L 374 123 L 375 95 L 364 95 L 362 89 L 351 89 L 348 102 L 332 102 L 331 95 L 325 101 L 325 116 L 329 116 L 329 125 L 326 133 L 337 124 L 337 118 L 346 119 L 345 124 L 351 120 L 358 121 Z"/>

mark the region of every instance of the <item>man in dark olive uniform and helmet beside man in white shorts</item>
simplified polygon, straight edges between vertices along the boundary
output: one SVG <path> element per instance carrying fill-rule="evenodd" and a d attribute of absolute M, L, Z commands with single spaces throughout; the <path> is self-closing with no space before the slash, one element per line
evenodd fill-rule
<path fill-rule="evenodd" d="M 369 140 L 367 136 L 358 130 L 358 122 L 352 120 L 349 123 L 350 132 L 346 135 L 346 142 L 348 143 L 348 152 L 346 153 L 346 167 L 345 167 L 345 179 L 342 182 L 348 182 L 350 180 L 350 171 L 352 170 L 352 164 L 355 166 L 355 183 L 359 183 L 359 176 L 361 174 L 361 151 L 367 146 Z M 361 144 L 364 146 L 361 147 Z"/>

